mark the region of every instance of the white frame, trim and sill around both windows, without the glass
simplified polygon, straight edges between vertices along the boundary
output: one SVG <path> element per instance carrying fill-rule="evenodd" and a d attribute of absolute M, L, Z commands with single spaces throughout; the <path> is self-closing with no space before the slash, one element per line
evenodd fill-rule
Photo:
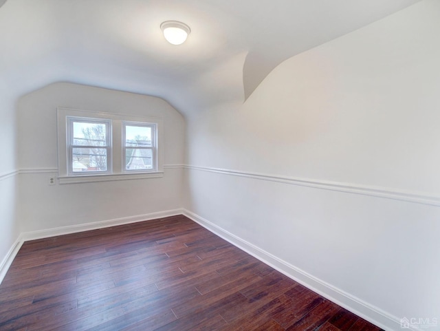
<path fill-rule="evenodd" d="M 69 121 L 84 120 L 85 122 L 109 122 L 109 151 L 108 171 L 85 171 L 85 173 L 73 172 L 72 169 L 72 144 L 73 138 L 69 136 Z M 137 125 L 151 125 L 155 128 L 153 147 L 153 169 L 125 170 L 124 123 Z M 104 113 L 99 111 L 86 111 L 80 109 L 57 108 L 57 136 L 58 136 L 58 180 L 60 184 L 80 182 L 106 182 L 110 180 L 133 180 L 143 178 L 161 178 L 164 175 L 164 151 L 163 151 L 163 120 L 162 118 L 130 116 L 122 114 Z M 72 169 L 72 170 L 71 170 Z"/>

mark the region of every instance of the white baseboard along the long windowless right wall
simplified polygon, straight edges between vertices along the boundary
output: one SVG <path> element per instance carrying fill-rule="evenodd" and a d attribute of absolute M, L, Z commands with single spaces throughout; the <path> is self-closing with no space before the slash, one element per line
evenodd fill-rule
<path fill-rule="evenodd" d="M 333 301 L 334 303 L 353 312 L 354 314 L 357 314 L 363 319 L 366 319 L 367 321 L 379 326 L 384 330 L 401 330 L 400 319 L 398 319 L 397 317 L 394 317 L 391 314 L 384 312 L 380 308 L 366 303 L 365 301 L 362 301 L 357 297 L 353 297 L 353 295 L 350 295 L 349 293 L 344 292 L 343 290 L 340 290 L 339 288 L 336 288 L 335 286 L 332 286 L 331 284 L 328 284 L 325 281 L 322 281 L 310 275 L 309 273 L 306 273 L 304 270 L 292 266 L 292 264 L 289 264 L 286 261 L 283 261 L 282 259 L 279 259 L 278 257 L 267 253 L 265 250 L 254 246 L 253 244 L 250 244 L 250 242 L 246 242 L 236 235 L 225 231 L 223 228 L 220 228 L 216 224 L 205 220 L 203 217 L 200 217 L 195 213 L 184 210 L 184 215 L 191 220 L 197 222 L 204 228 L 207 228 L 212 233 L 219 235 L 219 237 L 222 237 L 234 246 L 240 248 L 241 250 L 244 250 L 246 253 L 249 253 L 253 257 L 256 257 L 256 259 L 263 261 L 263 263 L 278 270 L 287 277 L 294 279 L 294 281 L 297 281 L 298 283 L 306 286 L 307 288 L 313 290 L 319 295 L 322 295 L 322 297 L 325 297 L 326 299 Z M 414 331 L 416 330 L 414 329 Z"/>

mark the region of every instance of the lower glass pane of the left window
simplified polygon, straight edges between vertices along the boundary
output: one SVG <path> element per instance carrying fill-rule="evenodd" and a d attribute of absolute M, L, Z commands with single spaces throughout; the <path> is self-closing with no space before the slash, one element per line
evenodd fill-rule
<path fill-rule="evenodd" d="M 72 153 L 72 171 L 107 171 L 107 149 L 74 148 Z"/>

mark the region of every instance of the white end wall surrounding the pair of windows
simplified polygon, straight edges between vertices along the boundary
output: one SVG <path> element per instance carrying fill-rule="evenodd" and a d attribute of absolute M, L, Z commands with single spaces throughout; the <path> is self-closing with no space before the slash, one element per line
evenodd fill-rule
<path fill-rule="evenodd" d="M 109 89 L 55 83 L 18 103 L 19 220 L 24 233 L 110 220 L 142 220 L 181 208 L 182 170 L 163 178 L 49 185 L 57 175 L 56 107 L 164 120 L 164 164 L 184 162 L 184 118 L 166 101 Z M 160 143 L 160 142 L 159 142 Z M 122 219 L 122 220 L 121 220 Z"/>

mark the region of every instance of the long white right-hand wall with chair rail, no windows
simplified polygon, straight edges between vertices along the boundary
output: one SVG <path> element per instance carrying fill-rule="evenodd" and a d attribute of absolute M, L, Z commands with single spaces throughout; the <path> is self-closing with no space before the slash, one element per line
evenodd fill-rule
<path fill-rule="evenodd" d="M 186 209 L 388 329 L 440 321 L 439 13 L 417 3 L 187 119 Z"/>

